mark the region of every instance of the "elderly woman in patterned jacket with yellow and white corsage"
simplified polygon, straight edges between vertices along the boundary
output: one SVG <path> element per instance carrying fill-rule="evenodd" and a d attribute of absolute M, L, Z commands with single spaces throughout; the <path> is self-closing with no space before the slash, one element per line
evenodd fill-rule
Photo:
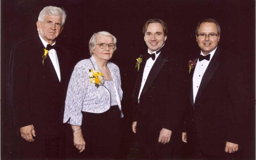
<path fill-rule="evenodd" d="M 123 91 L 119 68 L 108 62 L 116 50 L 116 37 L 94 33 L 90 59 L 73 70 L 65 101 L 64 123 L 71 124 L 74 145 L 86 158 L 114 159 L 119 155 L 119 121 L 123 117 Z"/>

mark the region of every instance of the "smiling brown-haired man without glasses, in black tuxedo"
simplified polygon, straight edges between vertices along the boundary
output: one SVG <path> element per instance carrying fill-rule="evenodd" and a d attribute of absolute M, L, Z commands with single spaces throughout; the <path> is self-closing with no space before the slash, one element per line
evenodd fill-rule
<path fill-rule="evenodd" d="M 172 159 L 180 151 L 188 73 L 181 55 L 165 44 L 167 33 L 163 20 L 148 20 L 143 27 L 148 51 L 138 58 L 132 95 L 132 131 L 141 148 L 140 159 Z"/>

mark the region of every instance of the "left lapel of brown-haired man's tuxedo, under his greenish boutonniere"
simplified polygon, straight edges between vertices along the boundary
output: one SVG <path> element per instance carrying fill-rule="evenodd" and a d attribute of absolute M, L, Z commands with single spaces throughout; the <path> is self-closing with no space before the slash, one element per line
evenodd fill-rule
<path fill-rule="evenodd" d="M 145 58 L 143 58 L 143 57 L 145 57 Z M 135 88 L 132 93 L 132 97 L 134 97 L 134 98 L 138 98 L 138 96 L 139 96 L 140 86 L 141 86 L 141 81 L 142 81 L 143 71 L 145 68 L 146 61 L 147 61 L 146 54 L 144 54 L 142 56 L 142 62 L 140 63 L 140 69 L 139 69 L 139 74 L 138 74 L 137 81 L 135 84 Z M 137 68 L 136 68 L 136 70 L 137 70 Z"/>

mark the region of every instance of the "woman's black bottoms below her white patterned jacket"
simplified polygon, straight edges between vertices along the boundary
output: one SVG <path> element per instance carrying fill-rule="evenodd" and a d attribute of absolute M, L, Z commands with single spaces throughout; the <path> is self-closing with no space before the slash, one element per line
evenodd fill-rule
<path fill-rule="evenodd" d="M 79 153 L 77 159 L 120 159 L 120 120 L 118 106 L 111 106 L 104 113 L 82 112 L 82 132 L 85 140 L 85 150 Z M 75 148 L 75 147 L 74 147 Z"/>

